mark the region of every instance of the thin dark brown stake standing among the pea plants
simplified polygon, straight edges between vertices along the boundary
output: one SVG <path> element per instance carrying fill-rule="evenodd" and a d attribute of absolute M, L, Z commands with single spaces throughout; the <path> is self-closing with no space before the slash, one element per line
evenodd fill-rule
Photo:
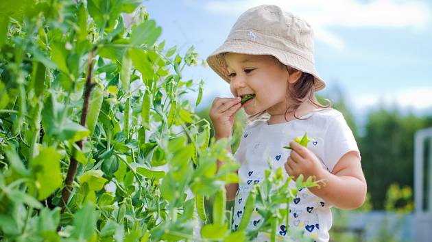
<path fill-rule="evenodd" d="M 93 51 L 91 51 L 88 54 L 88 72 L 86 78 L 86 90 L 84 92 L 84 103 L 82 104 L 82 113 L 81 113 L 81 120 L 80 120 L 80 124 L 82 126 L 86 126 L 86 118 L 87 118 L 87 111 L 88 111 L 88 103 L 90 102 L 90 94 L 91 94 L 91 90 L 95 86 L 95 83 L 92 83 L 91 81 L 92 71 L 93 71 Z M 82 149 L 82 146 L 84 144 L 84 139 L 81 139 L 80 141 L 76 142 L 76 144 L 77 146 L 80 147 L 80 149 Z M 75 178 L 75 174 L 77 173 L 77 167 L 78 167 L 78 161 L 72 155 L 71 163 L 69 163 L 69 169 L 67 170 L 67 176 L 66 179 L 64 180 L 62 199 L 60 200 L 60 207 L 62 208 L 62 213 L 64 212 L 64 209 L 66 209 L 69 196 L 71 196 L 72 183 L 73 183 L 73 179 Z"/>

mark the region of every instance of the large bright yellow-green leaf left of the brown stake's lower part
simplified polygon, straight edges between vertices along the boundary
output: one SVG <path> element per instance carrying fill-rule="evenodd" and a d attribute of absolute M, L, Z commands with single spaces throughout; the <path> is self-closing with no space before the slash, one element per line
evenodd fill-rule
<path fill-rule="evenodd" d="M 32 172 L 36 176 L 38 200 L 44 200 L 62 185 L 60 158 L 62 157 L 53 146 L 43 149 L 32 160 Z"/>

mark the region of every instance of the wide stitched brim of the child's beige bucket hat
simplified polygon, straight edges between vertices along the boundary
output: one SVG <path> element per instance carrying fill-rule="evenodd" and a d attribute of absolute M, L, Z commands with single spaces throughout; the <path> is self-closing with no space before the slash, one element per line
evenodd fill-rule
<path fill-rule="evenodd" d="M 326 84 L 315 70 L 315 66 L 308 59 L 297 55 L 296 53 L 290 53 L 288 51 L 282 51 L 272 46 L 259 44 L 257 42 L 251 42 L 248 40 L 226 40 L 216 51 L 209 55 L 206 59 L 208 66 L 210 66 L 222 79 L 230 83 L 229 73 L 226 68 L 226 62 L 224 59 L 224 53 L 239 53 L 248 55 L 273 55 L 279 62 L 285 64 L 285 66 L 291 66 L 302 72 L 307 72 L 315 78 L 315 84 L 313 90 L 319 91 L 325 88 Z"/>

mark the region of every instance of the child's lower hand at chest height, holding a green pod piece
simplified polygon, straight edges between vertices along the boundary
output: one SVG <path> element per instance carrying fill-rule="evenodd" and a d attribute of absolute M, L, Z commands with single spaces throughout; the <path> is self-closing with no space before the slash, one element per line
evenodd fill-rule
<path fill-rule="evenodd" d="M 315 154 L 296 142 L 290 142 L 289 146 L 291 146 L 292 150 L 285 163 L 285 170 L 287 170 L 289 176 L 297 179 L 300 174 L 303 174 L 304 180 L 309 176 L 315 176 L 316 180 L 320 180 L 324 169 Z"/>

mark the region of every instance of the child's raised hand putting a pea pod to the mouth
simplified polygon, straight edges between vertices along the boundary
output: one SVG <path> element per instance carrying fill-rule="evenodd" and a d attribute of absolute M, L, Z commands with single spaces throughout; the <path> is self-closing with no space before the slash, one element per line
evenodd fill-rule
<path fill-rule="evenodd" d="M 241 108 L 241 98 L 215 98 L 209 116 L 215 127 L 215 137 L 228 138 L 232 135 L 235 113 Z"/>

